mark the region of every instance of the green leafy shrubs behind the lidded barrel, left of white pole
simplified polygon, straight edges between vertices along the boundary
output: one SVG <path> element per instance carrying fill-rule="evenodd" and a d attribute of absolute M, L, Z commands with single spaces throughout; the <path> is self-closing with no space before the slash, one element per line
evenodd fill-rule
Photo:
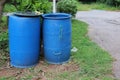
<path fill-rule="evenodd" d="M 51 3 L 48 0 L 12 0 L 10 2 L 17 11 L 39 11 L 41 13 L 47 13 L 51 11 Z"/>

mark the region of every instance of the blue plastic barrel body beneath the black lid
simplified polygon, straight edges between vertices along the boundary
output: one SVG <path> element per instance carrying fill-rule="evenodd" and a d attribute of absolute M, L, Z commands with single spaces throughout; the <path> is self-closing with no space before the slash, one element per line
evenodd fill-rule
<path fill-rule="evenodd" d="M 10 63 L 27 68 L 36 65 L 40 54 L 40 17 L 9 16 Z"/>

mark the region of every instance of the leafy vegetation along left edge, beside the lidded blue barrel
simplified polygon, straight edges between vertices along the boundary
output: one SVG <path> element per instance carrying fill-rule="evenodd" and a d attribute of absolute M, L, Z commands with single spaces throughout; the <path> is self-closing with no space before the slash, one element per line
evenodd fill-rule
<path fill-rule="evenodd" d="M 9 59 L 8 56 L 8 29 L 7 17 L 2 16 L 0 24 L 0 67 L 5 64 Z"/>

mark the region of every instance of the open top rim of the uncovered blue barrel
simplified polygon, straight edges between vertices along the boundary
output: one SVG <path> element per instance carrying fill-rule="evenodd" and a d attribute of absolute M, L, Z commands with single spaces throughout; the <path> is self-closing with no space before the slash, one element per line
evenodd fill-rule
<path fill-rule="evenodd" d="M 67 19 L 71 18 L 71 15 L 67 13 L 49 13 L 43 14 L 42 17 L 46 19 Z"/>

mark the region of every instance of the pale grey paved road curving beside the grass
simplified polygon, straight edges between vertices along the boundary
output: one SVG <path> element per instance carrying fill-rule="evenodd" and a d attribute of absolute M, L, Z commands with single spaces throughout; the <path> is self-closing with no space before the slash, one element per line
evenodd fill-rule
<path fill-rule="evenodd" d="M 89 24 L 89 37 L 115 59 L 113 74 L 120 79 L 120 12 L 80 11 L 76 18 Z"/>

